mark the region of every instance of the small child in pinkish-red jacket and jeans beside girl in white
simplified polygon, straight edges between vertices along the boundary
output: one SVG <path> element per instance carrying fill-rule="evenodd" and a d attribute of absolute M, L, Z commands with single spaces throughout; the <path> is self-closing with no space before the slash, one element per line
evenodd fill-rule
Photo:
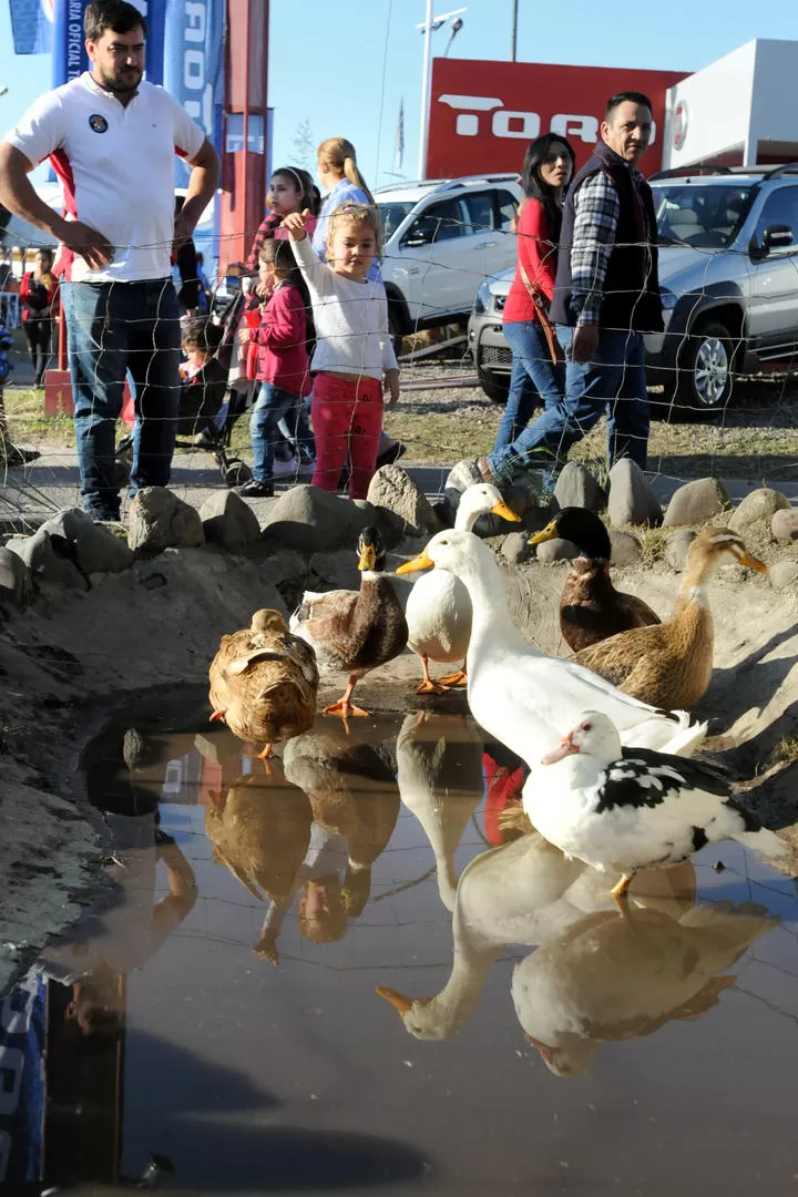
<path fill-rule="evenodd" d="M 274 494 L 274 438 L 285 417 L 297 424 L 301 400 L 310 393 L 307 357 L 309 299 L 304 281 L 286 241 L 264 241 L 258 250 L 261 305 L 257 330 L 260 394 L 249 424 L 252 439 L 252 480 L 239 487 L 246 498 Z"/>

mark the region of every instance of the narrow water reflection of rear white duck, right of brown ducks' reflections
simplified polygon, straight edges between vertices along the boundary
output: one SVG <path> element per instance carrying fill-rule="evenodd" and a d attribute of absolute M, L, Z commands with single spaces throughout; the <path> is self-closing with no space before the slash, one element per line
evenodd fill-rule
<path fill-rule="evenodd" d="M 404 806 L 434 852 L 438 893 L 455 910 L 455 852 L 482 800 L 483 737 L 459 715 L 408 715 L 396 740 L 396 780 Z"/>

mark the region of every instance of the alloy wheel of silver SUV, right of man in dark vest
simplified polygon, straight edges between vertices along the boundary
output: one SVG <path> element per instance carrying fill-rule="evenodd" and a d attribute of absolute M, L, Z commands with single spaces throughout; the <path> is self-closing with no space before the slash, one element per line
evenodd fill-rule
<path fill-rule="evenodd" d="M 681 420 L 711 419 L 725 411 L 733 381 L 735 342 L 725 324 L 708 320 L 684 339 L 674 396 Z"/>

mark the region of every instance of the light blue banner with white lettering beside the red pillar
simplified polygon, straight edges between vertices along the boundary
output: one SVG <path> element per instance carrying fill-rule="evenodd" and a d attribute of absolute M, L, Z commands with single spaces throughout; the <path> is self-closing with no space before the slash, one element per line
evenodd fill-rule
<path fill-rule="evenodd" d="M 221 152 L 224 0 L 166 0 L 164 87 Z"/>

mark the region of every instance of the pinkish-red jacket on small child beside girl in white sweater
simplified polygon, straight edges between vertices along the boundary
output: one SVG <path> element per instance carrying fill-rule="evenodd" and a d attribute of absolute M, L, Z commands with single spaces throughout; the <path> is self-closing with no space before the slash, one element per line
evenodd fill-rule
<path fill-rule="evenodd" d="M 290 395 L 307 395 L 311 389 L 307 357 L 307 317 L 299 287 L 278 282 L 261 309 L 257 334 L 257 379 L 281 387 Z"/>

